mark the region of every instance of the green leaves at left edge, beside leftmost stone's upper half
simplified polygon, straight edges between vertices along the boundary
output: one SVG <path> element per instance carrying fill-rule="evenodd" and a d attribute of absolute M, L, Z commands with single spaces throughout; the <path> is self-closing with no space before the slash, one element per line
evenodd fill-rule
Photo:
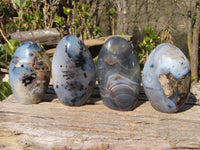
<path fill-rule="evenodd" d="M 2 68 L 9 68 L 10 61 L 12 56 L 20 45 L 19 41 L 9 40 L 8 43 L 3 44 L 0 48 L 0 67 Z"/>

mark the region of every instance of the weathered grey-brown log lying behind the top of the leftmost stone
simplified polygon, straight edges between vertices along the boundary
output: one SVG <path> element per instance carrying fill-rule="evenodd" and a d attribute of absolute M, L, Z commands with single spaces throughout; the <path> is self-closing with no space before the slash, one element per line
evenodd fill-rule
<path fill-rule="evenodd" d="M 60 32 L 56 28 L 15 32 L 11 34 L 11 39 L 20 42 L 33 41 L 47 46 L 56 46 L 60 40 Z"/>

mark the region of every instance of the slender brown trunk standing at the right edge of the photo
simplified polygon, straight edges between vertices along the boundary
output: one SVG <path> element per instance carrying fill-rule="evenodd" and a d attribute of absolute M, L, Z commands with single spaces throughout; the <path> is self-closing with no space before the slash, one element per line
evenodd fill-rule
<path fill-rule="evenodd" d="M 191 61 L 190 61 L 192 76 L 195 77 L 193 84 L 198 81 L 198 65 L 199 65 L 198 52 L 199 52 L 200 6 L 198 2 L 196 2 L 196 5 L 197 5 L 196 7 L 197 16 L 193 28 Z"/>

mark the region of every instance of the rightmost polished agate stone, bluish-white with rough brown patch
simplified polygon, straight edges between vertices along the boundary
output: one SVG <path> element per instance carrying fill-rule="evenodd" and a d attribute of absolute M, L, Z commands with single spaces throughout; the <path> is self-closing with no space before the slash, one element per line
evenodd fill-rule
<path fill-rule="evenodd" d="M 143 69 L 145 93 L 153 108 L 173 113 L 180 110 L 190 93 L 190 66 L 176 46 L 163 43 L 150 54 Z"/>

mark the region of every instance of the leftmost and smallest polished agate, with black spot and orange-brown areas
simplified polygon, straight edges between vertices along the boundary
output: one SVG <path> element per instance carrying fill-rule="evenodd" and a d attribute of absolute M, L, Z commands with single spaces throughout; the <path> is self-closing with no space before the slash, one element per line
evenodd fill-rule
<path fill-rule="evenodd" d="M 27 41 L 17 48 L 10 62 L 9 80 L 19 102 L 40 102 L 48 88 L 50 75 L 49 57 L 40 45 Z"/>

